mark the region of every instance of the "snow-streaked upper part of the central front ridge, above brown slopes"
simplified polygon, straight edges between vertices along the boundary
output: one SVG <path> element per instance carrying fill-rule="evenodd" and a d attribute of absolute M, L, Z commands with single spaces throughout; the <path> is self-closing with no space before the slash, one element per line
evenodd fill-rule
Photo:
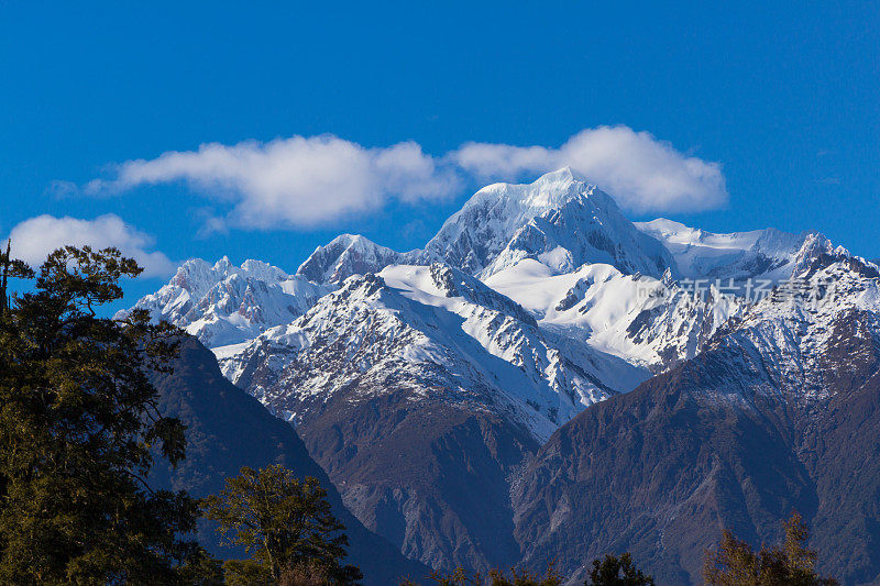
<path fill-rule="evenodd" d="M 356 386 L 465 401 L 546 439 L 647 372 L 543 332 L 517 303 L 441 264 L 354 276 L 289 325 L 218 349 L 224 374 L 274 412 L 302 420 Z"/>

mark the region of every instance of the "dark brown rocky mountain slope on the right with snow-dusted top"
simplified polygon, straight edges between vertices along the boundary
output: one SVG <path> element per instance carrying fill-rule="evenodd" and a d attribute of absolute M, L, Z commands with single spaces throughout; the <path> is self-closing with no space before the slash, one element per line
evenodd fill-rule
<path fill-rule="evenodd" d="M 880 579 L 880 274 L 838 254 L 801 277 L 541 447 L 514 496 L 525 563 L 583 575 L 630 551 L 660 584 L 700 584 L 723 527 L 771 541 L 798 509 L 826 573 Z"/>

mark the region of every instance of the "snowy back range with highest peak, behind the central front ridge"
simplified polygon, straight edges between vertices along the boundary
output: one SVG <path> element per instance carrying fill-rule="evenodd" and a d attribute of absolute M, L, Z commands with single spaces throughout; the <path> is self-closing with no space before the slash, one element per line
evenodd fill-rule
<path fill-rule="evenodd" d="M 424 251 L 397 253 L 364 236 L 343 234 L 319 246 L 295 276 L 256 261 L 242 267 L 226 258 L 213 266 L 190 261 L 136 307 L 184 327 L 213 347 L 232 377 L 235 368 L 229 365 L 244 362 L 240 353 L 266 343 L 277 331 L 257 341 L 258 334 L 278 325 L 293 328 L 319 298 L 351 276 L 384 272 L 394 283 L 383 280 L 386 286 L 408 290 L 410 301 L 425 301 L 430 295 L 395 280 L 393 267 L 430 265 L 435 273 L 441 266 L 454 267 L 494 289 L 491 296 L 472 297 L 472 307 L 497 311 L 492 303 L 506 299 L 503 312 L 521 323 L 534 320 L 529 328 L 554 352 L 586 349 L 593 356 L 623 358 L 637 371 L 660 372 L 696 355 L 726 320 L 744 312 L 748 300 L 735 295 L 739 288 L 719 290 L 722 280 L 754 277 L 776 283 L 834 252 L 816 233 L 713 234 L 662 219 L 634 224 L 608 195 L 563 168 L 532 184 L 481 189 Z M 407 270 L 418 273 L 415 267 Z M 685 281 L 694 279 L 705 283 L 688 288 Z M 475 278 L 470 283 L 486 289 Z M 339 299 L 331 297 L 321 307 Z M 526 308 L 528 319 L 512 310 L 514 306 Z M 397 311 L 422 309 L 409 303 Z M 284 344 L 277 341 L 273 344 L 278 347 L 270 362 L 292 352 L 279 350 Z M 573 363 L 582 366 L 579 360 Z M 631 371 L 620 364 L 616 373 L 607 368 L 591 373 L 597 375 L 594 384 L 613 390 L 630 388 Z M 546 373 L 544 377 L 553 378 Z M 571 398 L 574 410 L 591 402 L 581 401 L 571 389 L 563 395 Z M 550 408 L 534 397 L 529 400 Z M 563 413 L 559 421 L 574 412 L 562 406 L 556 409 Z"/>

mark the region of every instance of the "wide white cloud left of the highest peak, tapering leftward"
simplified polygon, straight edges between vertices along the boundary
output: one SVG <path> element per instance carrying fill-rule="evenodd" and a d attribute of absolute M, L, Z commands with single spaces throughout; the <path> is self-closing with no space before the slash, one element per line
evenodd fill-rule
<path fill-rule="evenodd" d="M 294 136 L 270 143 L 201 145 L 152 161 L 129 161 L 87 192 L 183 180 L 233 202 L 228 220 L 245 228 L 311 226 L 404 201 L 446 197 L 458 178 L 414 142 L 365 148 L 336 136 Z M 217 230 L 219 226 L 215 225 Z"/>

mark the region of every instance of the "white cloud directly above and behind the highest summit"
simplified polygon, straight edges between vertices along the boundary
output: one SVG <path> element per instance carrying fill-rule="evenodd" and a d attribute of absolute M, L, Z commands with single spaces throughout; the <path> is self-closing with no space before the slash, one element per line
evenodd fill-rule
<path fill-rule="evenodd" d="M 466 172 L 496 180 L 568 165 L 637 212 L 700 211 L 727 202 L 719 164 L 627 126 L 583 130 L 559 148 L 469 143 L 450 157 Z"/>

